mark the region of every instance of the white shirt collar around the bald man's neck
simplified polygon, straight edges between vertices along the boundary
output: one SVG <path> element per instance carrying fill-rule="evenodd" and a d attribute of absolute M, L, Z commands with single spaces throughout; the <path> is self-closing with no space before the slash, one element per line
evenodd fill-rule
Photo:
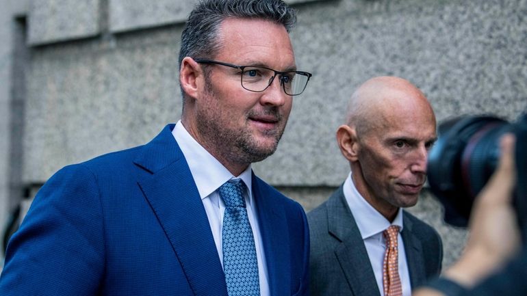
<path fill-rule="evenodd" d="M 402 231 L 402 208 L 399 208 L 394 221 L 390 224 L 389 221 L 379 213 L 371 204 L 369 204 L 361 193 L 357 191 L 357 187 L 353 183 L 351 173 L 344 181 L 344 198 L 350 207 L 350 211 L 355 218 L 355 223 L 361 232 L 362 239 L 367 239 L 375 234 L 383 232 L 390 225 L 399 226 L 399 232 Z"/>

